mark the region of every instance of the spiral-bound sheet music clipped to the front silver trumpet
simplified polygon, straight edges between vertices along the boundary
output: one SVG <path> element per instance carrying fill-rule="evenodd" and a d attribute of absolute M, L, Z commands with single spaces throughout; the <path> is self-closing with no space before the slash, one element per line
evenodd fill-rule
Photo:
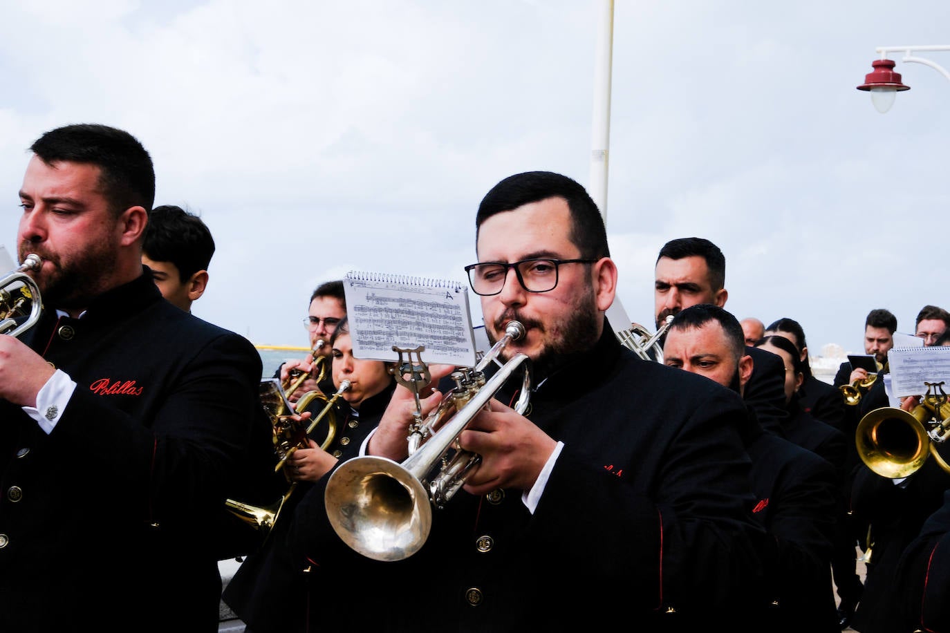
<path fill-rule="evenodd" d="M 421 345 L 426 363 L 475 365 L 467 284 L 351 270 L 343 288 L 354 357 L 397 361 L 394 345 Z"/>

